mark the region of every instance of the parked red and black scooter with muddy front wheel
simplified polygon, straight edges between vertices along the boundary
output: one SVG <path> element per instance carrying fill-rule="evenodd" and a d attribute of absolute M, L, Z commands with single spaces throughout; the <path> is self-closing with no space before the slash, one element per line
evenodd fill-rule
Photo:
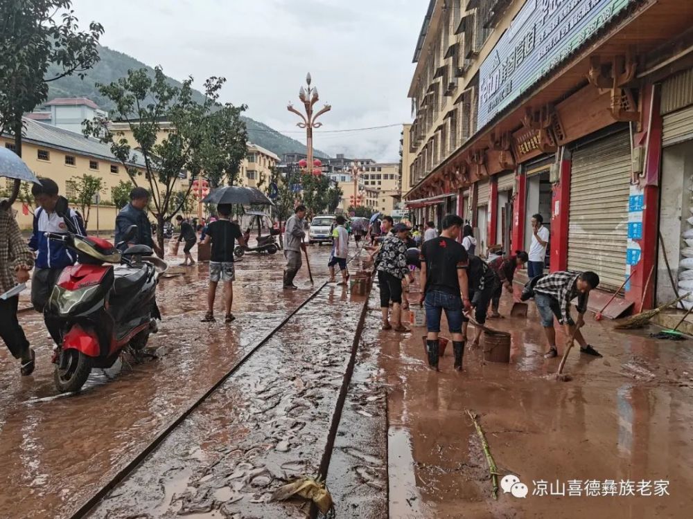
<path fill-rule="evenodd" d="M 166 263 L 148 246 L 120 252 L 98 237 L 82 237 L 65 219 L 69 233 L 48 233 L 78 253 L 78 264 L 62 270 L 44 318 L 55 340 L 55 386 L 60 392 L 82 388 L 91 368 L 114 365 L 123 349 L 141 355 L 161 320 L 155 297 Z M 132 226 L 128 242 L 137 232 Z M 123 265 L 123 268 L 114 268 Z"/>

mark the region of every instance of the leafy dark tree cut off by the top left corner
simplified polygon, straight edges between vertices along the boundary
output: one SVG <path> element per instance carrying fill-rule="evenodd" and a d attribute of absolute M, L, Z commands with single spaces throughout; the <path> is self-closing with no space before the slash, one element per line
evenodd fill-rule
<path fill-rule="evenodd" d="M 0 0 L 0 133 L 13 134 L 21 156 L 21 117 L 48 96 L 49 82 L 98 62 L 100 24 L 78 29 L 71 0 Z M 49 65 L 58 72 L 48 75 Z"/>

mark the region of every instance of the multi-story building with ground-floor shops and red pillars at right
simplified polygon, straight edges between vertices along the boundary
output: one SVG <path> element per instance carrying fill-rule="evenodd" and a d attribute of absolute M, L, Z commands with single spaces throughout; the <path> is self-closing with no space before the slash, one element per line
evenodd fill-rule
<path fill-rule="evenodd" d="M 693 238 L 692 20 L 690 0 L 430 1 L 409 92 L 417 221 L 457 212 L 477 251 L 514 251 L 540 213 L 551 271 L 627 280 L 635 311 L 671 299 L 663 252 L 685 268 Z"/>

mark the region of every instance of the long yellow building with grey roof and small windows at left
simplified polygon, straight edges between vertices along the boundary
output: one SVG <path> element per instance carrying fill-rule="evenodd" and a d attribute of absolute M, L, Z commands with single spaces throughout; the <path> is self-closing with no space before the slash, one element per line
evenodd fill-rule
<path fill-rule="evenodd" d="M 73 177 L 89 174 L 103 179 L 104 190 L 100 194 L 98 219 L 96 206 L 92 206 L 88 228 L 96 230 L 97 220 L 101 230 L 112 230 L 115 226 L 116 208 L 112 203 L 112 190 L 120 181 L 129 181 L 130 176 L 123 164 L 113 156 L 109 146 L 94 138 L 85 138 L 73 131 L 46 125 L 24 118 L 24 138 L 21 158 L 36 176 L 44 176 L 58 183 L 60 194 L 68 199 L 76 195 Z M 14 149 L 14 138 L 0 136 L 0 145 Z M 141 156 L 134 154 L 130 167 L 144 171 Z M 1 179 L 0 190 L 8 191 L 13 181 Z M 14 205 L 17 221 L 23 229 L 30 229 L 33 222 L 33 206 L 24 207 L 21 201 Z M 28 212 L 28 214 L 24 214 Z"/>

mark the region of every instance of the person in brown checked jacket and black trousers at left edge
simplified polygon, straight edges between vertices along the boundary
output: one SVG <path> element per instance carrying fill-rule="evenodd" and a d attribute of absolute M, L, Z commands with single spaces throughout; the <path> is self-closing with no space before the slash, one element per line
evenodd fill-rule
<path fill-rule="evenodd" d="M 24 283 L 34 266 L 34 255 L 21 237 L 17 221 L 4 208 L 0 208 L 0 294 Z M 0 337 L 10 353 L 21 360 L 20 372 L 30 375 L 34 370 L 35 353 L 29 347 L 24 330 L 17 320 L 19 295 L 0 299 Z"/>

